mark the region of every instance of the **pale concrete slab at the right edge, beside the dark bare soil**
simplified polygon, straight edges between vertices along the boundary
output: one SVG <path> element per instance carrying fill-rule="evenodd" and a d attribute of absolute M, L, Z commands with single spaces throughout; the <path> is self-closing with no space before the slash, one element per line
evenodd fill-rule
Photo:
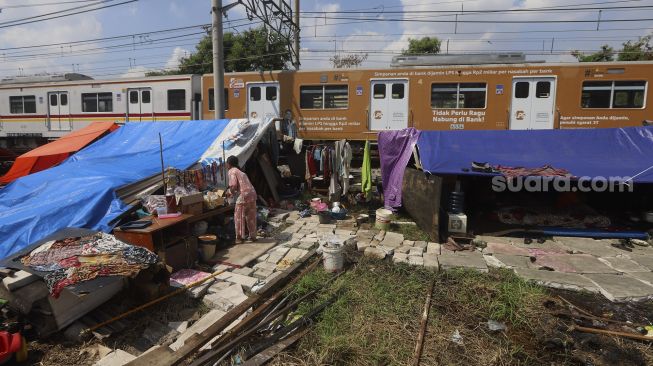
<path fill-rule="evenodd" d="M 613 302 L 640 301 L 653 298 L 653 286 L 621 274 L 590 273 L 601 295 Z"/>

